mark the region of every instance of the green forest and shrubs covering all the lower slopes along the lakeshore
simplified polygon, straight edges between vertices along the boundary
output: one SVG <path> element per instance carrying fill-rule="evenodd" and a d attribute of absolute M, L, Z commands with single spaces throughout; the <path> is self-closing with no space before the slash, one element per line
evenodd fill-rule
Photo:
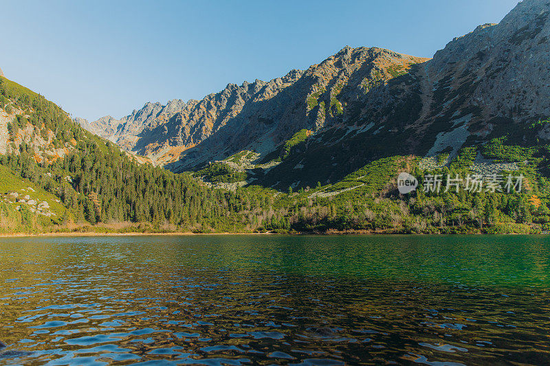
<path fill-rule="evenodd" d="M 389 232 L 473 233 L 541 232 L 550 229 L 548 167 L 550 146 L 519 146 L 507 137 L 479 148 L 464 148 L 452 161 L 437 168 L 421 168 L 420 158 L 395 156 L 377 159 L 336 183 L 288 187 L 285 192 L 254 185 L 254 165 L 239 163 L 256 155 L 241 152 L 195 173 L 214 183 L 243 181 L 244 187 L 220 190 L 202 184 L 191 174 L 174 174 L 151 164 L 140 165 L 118 146 L 91 135 L 74 124 L 52 102 L 1 78 L 5 111 L 17 111 L 13 125 L 55 131 L 65 146 L 61 158 L 36 159 L 39 139 L 10 141 L 12 151 L 1 156 L 1 231 L 195 231 L 195 232 Z M 19 122 L 20 120 L 23 122 Z M 20 124 L 22 123 L 22 124 Z M 533 123 L 534 126 L 543 122 Z M 44 132 L 45 131 L 45 132 Z M 13 128 L 10 136 L 16 133 Z M 278 159 L 300 155 L 307 131 L 281 145 Z M 71 147 L 72 148 L 67 148 Z M 43 146 L 39 146 L 44 148 Z M 399 172 L 411 172 L 423 184 L 424 174 L 474 174 L 477 154 L 494 162 L 514 161 L 524 174 L 522 192 L 436 192 L 419 189 L 397 192 Z M 441 163 L 441 161 L 439 161 Z M 235 168 L 236 167 L 236 168 Z M 11 194 L 11 195 L 10 195 Z M 18 197 L 14 198 L 14 194 Z M 45 216 L 37 205 L 18 203 L 26 194 L 47 202 Z M 31 210 L 33 209 L 33 210 Z M 44 211 L 44 209 L 42 209 Z"/>

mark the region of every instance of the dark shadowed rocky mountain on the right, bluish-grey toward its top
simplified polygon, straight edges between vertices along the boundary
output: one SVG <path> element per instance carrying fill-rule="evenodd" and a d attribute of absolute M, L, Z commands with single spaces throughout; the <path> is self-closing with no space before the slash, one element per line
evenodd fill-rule
<path fill-rule="evenodd" d="M 536 143 L 524 131 L 550 115 L 549 37 L 550 1 L 518 3 L 500 23 L 455 38 L 432 60 L 347 102 L 342 124 L 309 138 L 265 181 L 337 181 L 381 157 L 450 152 L 452 159 L 506 135 Z M 542 139 L 547 126 L 540 128 Z"/>

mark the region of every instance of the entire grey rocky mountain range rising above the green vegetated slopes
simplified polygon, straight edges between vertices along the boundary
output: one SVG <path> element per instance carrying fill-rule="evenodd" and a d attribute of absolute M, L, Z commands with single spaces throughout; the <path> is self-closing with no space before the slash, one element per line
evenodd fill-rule
<path fill-rule="evenodd" d="M 250 150 L 258 166 L 274 161 L 254 179 L 277 187 L 336 181 L 393 155 L 452 158 L 549 117 L 549 20 L 548 0 L 525 0 L 431 60 L 344 47 L 305 71 L 228 84 L 199 101 L 148 103 L 90 128 L 174 171 Z M 300 130 L 307 139 L 281 159 Z"/>

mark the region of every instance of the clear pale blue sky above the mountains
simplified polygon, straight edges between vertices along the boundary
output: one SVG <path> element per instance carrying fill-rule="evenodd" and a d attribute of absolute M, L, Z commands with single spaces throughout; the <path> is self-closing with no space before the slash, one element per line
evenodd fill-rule
<path fill-rule="evenodd" d="M 518 0 L 0 3 L 0 68 L 74 116 L 200 99 L 305 69 L 345 45 L 431 57 Z"/>

